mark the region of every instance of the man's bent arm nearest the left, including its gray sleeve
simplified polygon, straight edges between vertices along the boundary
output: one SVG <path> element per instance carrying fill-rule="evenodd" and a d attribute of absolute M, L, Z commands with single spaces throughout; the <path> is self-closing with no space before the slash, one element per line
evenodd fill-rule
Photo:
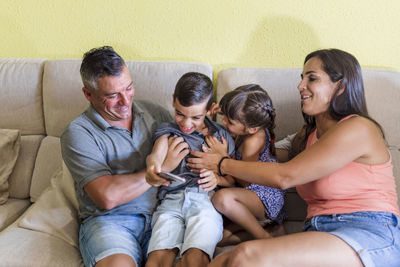
<path fill-rule="evenodd" d="M 128 203 L 151 187 L 146 183 L 144 169 L 111 174 L 103 151 L 84 127 L 69 127 L 60 141 L 64 162 L 77 186 L 83 188 L 99 208 L 109 210 Z"/>

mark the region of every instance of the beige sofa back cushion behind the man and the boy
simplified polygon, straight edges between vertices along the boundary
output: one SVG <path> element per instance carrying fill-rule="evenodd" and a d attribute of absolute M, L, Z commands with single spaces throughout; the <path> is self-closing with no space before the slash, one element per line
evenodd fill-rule
<path fill-rule="evenodd" d="M 48 135 L 60 137 L 67 124 L 89 105 L 82 93 L 81 60 L 46 61 L 43 75 L 43 107 Z M 135 99 L 152 100 L 172 112 L 172 92 L 188 71 L 212 77 L 203 63 L 126 61 L 135 87 Z"/>

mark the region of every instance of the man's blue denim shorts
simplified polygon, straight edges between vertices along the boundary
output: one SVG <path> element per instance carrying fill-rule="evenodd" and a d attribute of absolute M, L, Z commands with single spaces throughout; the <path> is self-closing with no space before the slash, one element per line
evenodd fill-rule
<path fill-rule="evenodd" d="M 151 235 L 147 214 L 91 216 L 79 230 L 79 247 L 85 266 L 113 254 L 131 256 L 136 266 L 144 266 Z"/>

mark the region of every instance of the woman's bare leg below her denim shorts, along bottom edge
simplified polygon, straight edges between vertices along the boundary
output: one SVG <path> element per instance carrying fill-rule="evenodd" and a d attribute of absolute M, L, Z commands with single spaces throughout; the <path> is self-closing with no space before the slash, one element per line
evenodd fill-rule
<path fill-rule="evenodd" d="M 363 266 L 357 253 L 342 239 L 324 232 L 302 232 L 253 240 L 213 260 L 217 266 Z"/>

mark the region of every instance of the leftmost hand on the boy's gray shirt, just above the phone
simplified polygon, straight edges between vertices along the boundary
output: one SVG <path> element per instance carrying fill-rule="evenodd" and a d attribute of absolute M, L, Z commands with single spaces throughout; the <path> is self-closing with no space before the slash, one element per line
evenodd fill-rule
<path fill-rule="evenodd" d="M 168 152 L 162 165 L 163 171 L 174 170 L 188 154 L 189 145 L 184 142 L 182 137 L 168 138 Z"/>

